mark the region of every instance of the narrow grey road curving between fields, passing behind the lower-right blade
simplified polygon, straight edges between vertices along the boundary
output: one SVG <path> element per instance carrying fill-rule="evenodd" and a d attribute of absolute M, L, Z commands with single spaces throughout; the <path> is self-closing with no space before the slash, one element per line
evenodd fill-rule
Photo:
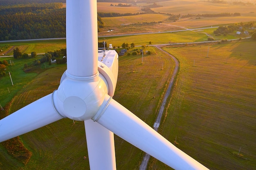
<path fill-rule="evenodd" d="M 159 109 L 159 113 L 157 115 L 157 119 L 155 120 L 155 123 L 154 123 L 154 126 L 153 126 L 154 130 L 157 131 L 158 127 L 160 125 L 160 122 L 161 122 L 162 115 L 164 113 L 164 108 L 165 108 L 165 104 L 166 104 L 167 98 L 171 94 L 171 89 L 173 87 L 173 81 L 174 81 L 174 78 L 176 77 L 177 72 L 178 72 L 179 62 L 178 62 L 178 60 L 173 55 L 171 55 L 171 54 L 167 53 L 166 51 L 164 51 L 163 49 L 161 49 L 161 46 L 155 45 L 155 47 L 157 49 L 159 49 L 160 51 L 162 51 L 163 53 L 169 55 L 173 59 L 173 61 L 175 63 L 175 67 L 174 67 L 174 70 L 173 70 L 173 74 L 171 75 L 171 80 L 169 82 L 169 86 L 168 86 L 167 91 L 166 91 L 166 93 L 164 95 L 164 99 L 162 101 L 162 104 L 161 104 L 160 109 Z M 145 153 L 145 156 L 144 156 L 144 158 L 143 158 L 143 160 L 141 162 L 139 170 L 146 170 L 147 169 L 149 159 L 150 159 L 150 155 Z"/>

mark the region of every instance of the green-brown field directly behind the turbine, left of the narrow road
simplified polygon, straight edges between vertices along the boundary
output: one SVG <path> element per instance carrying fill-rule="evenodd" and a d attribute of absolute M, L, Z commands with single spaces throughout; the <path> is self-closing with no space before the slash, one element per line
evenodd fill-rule
<path fill-rule="evenodd" d="M 114 99 L 153 126 L 169 75 L 173 71 L 170 57 L 148 47 L 152 55 L 119 57 L 119 77 Z M 11 113 L 58 88 L 66 66 L 48 69 L 27 84 L 15 97 Z M 32 152 L 26 166 L 8 155 L 0 145 L 0 169 L 89 169 L 83 121 L 62 119 L 20 136 Z M 117 169 L 138 169 L 144 152 L 115 137 Z M 87 159 L 83 159 L 87 157 Z"/>

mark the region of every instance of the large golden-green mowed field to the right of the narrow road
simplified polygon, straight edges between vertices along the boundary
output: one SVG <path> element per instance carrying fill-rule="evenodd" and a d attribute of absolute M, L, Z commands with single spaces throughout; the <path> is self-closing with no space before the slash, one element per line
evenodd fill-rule
<path fill-rule="evenodd" d="M 180 71 L 160 132 L 211 170 L 256 167 L 255 46 L 164 47 Z M 151 159 L 149 169 L 170 168 Z"/>

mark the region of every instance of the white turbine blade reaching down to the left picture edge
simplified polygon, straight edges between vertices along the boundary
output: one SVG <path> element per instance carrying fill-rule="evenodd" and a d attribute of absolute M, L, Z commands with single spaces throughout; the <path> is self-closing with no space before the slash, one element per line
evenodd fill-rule
<path fill-rule="evenodd" d="M 52 106 L 52 94 L 0 120 L 0 142 L 62 119 Z"/>

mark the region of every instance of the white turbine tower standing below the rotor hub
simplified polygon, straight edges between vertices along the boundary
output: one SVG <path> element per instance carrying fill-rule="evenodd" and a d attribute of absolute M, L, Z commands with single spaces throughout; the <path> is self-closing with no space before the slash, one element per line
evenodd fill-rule
<path fill-rule="evenodd" d="M 90 170 L 116 170 L 113 132 L 91 119 L 84 122 Z"/>

